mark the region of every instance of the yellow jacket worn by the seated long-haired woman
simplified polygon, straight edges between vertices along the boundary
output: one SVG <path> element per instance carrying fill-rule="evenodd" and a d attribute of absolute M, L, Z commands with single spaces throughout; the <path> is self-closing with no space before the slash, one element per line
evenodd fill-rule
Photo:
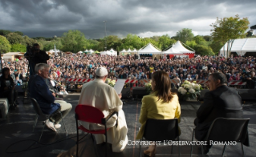
<path fill-rule="evenodd" d="M 165 103 L 161 99 L 159 101 L 157 100 L 156 92 L 143 97 L 139 119 L 141 127 L 136 139 L 142 138 L 147 119 L 177 118 L 178 123 L 181 122 L 181 106 L 177 95 L 173 95 L 173 99 L 169 103 Z M 180 128 L 179 134 L 181 135 Z"/>

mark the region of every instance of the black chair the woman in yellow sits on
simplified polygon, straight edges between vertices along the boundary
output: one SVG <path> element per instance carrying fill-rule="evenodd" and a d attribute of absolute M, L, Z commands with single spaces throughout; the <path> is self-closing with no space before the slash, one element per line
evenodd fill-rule
<path fill-rule="evenodd" d="M 166 140 L 175 140 L 179 141 L 179 125 L 178 119 L 148 119 L 144 129 L 144 135 L 140 139 L 148 141 L 161 141 Z M 180 145 L 179 156 L 181 155 Z M 172 154 L 173 154 L 173 145 L 172 145 Z M 141 157 L 141 145 L 140 145 L 140 157 Z"/>

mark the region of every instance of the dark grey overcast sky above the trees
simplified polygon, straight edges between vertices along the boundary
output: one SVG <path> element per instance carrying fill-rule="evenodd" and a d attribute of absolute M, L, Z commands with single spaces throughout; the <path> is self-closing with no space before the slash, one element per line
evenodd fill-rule
<path fill-rule="evenodd" d="M 239 14 L 256 25 L 256 0 L 0 0 L 0 29 L 29 37 L 61 36 L 80 30 L 86 38 L 169 34 L 189 28 L 210 34 L 216 18 Z"/>

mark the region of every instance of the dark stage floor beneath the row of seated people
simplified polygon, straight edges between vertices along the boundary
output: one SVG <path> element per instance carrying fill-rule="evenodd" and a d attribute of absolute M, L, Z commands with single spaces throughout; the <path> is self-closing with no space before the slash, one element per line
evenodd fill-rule
<path fill-rule="evenodd" d="M 76 156 L 76 130 L 75 130 L 75 106 L 78 103 L 79 95 L 66 95 L 65 99 L 71 103 L 73 108 L 69 115 L 64 119 L 68 131 L 66 137 L 64 127 L 55 133 L 45 128 L 41 143 L 50 143 L 49 145 L 42 145 L 35 143 L 39 139 L 39 135 L 43 128 L 43 119 L 39 119 L 35 131 L 32 132 L 32 126 L 35 120 L 35 112 L 32 105 L 22 103 L 22 98 L 18 98 L 20 103 L 16 110 L 10 111 L 5 121 L 0 121 L 0 156 L 1 157 L 51 157 L 51 156 Z M 201 103 L 181 103 L 181 141 L 190 141 L 193 131 L 193 120 L 196 117 L 197 108 Z M 140 107 L 141 100 L 124 99 L 124 113 L 128 125 L 128 140 L 134 141 L 136 134 L 139 131 L 140 123 Z M 249 136 L 250 147 L 244 147 L 246 156 L 255 156 L 256 154 L 256 103 L 246 103 L 244 105 L 244 118 L 250 118 L 249 123 Z M 61 123 L 62 124 L 62 123 Z M 81 134 L 81 133 L 80 133 Z M 80 135 L 80 138 L 85 135 Z M 56 143 L 57 142 L 57 143 Z M 15 143 L 12 147 L 6 150 L 11 144 Z M 213 146 L 208 156 L 221 156 L 223 146 Z M 108 147 L 109 148 L 109 147 Z M 190 146 L 181 146 L 181 156 L 190 155 Z M 146 146 L 142 146 L 142 152 Z M 7 152 L 6 152 L 7 151 Z M 104 153 L 105 145 L 98 145 L 97 150 Z M 16 153 L 14 153 L 16 152 Z M 171 155 L 171 146 L 161 144 L 156 148 L 156 156 L 178 156 L 177 146 L 173 147 L 173 155 Z M 225 156 L 242 156 L 241 145 L 238 143 L 236 146 L 227 146 Z M 201 156 L 201 149 L 199 146 L 193 147 L 193 156 Z M 94 157 L 95 149 L 91 137 L 87 135 L 79 143 L 79 156 Z M 121 153 L 112 153 L 108 149 L 108 156 L 116 157 L 136 157 L 139 156 L 139 145 L 132 145 L 130 143 Z M 206 155 L 207 156 L 207 155 Z"/>

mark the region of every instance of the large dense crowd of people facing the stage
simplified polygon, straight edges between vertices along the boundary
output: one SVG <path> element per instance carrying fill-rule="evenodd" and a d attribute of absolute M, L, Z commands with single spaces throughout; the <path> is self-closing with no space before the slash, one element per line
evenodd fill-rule
<path fill-rule="evenodd" d="M 108 69 L 108 78 L 151 79 L 152 73 L 164 70 L 171 79 L 207 80 L 209 74 L 221 72 L 226 74 L 228 81 L 247 82 L 248 88 L 255 87 L 255 58 L 250 57 L 214 57 L 197 56 L 195 58 L 171 59 L 141 57 L 136 55 L 109 56 L 100 54 L 64 54 L 52 56 L 47 63 L 51 66 L 51 78 L 95 78 L 95 70 L 99 66 Z M 15 62 L 2 62 L 9 67 L 14 80 L 26 77 L 28 61 L 20 58 Z M 18 76 L 18 78 L 17 78 Z M 248 83 L 249 82 L 249 83 Z"/>

